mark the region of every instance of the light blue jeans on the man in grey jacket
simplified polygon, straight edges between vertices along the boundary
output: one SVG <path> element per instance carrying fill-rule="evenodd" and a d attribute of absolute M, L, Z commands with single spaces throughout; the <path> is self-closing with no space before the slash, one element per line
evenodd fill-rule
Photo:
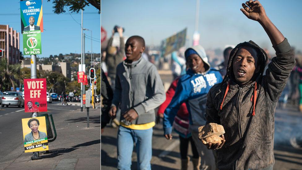
<path fill-rule="evenodd" d="M 153 128 L 133 130 L 119 126 L 118 132 L 118 169 L 130 170 L 134 143 L 136 145 L 137 169 L 150 170 L 152 158 Z"/>

